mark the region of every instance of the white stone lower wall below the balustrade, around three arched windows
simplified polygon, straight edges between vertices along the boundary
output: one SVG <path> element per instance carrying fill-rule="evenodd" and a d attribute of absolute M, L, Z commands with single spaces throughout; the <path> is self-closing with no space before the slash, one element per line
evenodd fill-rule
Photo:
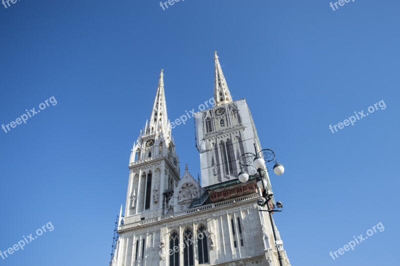
<path fill-rule="evenodd" d="M 237 218 L 240 220 L 243 246 L 240 242 Z M 231 219 L 234 220 L 234 235 L 232 233 Z M 279 265 L 277 254 L 273 247 L 273 237 L 267 212 L 258 211 L 255 199 L 120 230 L 116 254 L 117 265 L 169 265 L 170 233 L 176 230 L 179 234 L 179 244 L 181 244 L 183 243 L 183 230 L 189 227 L 194 235 L 199 224 L 203 224 L 208 233 L 212 231 L 213 235 L 213 248 L 211 248 L 210 239 L 207 238 L 209 263 L 205 264 Z M 160 248 L 161 237 L 164 243 L 163 249 Z M 144 238 L 143 254 L 142 244 Z M 139 246 L 136 259 L 137 240 Z M 235 240 L 236 247 L 234 247 Z M 194 265 L 199 265 L 197 239 L 193 240 L 193 248 Z M 179 252 L 179 265 L 183 265 L 183 250 L 179 248 L 177 252 Z M 163 258 L 161 258 L 162 253 L 164 255 Z M 271 256 L 272 264 L 267 262 L 268 253 Z"/>

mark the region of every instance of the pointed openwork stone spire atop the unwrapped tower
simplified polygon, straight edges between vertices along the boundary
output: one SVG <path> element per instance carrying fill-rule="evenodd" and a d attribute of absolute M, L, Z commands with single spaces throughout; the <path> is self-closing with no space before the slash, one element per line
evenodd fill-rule
<path fill-rule="evenodd" d="M 168 116 L 166 113 L 165 93 L 164 93 L 164 73 L 163 69 L 159 74 L 157 92 L 155 93 L 154 104 L 150 115 L 148 130 L 163 131 L 169 130 Z"/>

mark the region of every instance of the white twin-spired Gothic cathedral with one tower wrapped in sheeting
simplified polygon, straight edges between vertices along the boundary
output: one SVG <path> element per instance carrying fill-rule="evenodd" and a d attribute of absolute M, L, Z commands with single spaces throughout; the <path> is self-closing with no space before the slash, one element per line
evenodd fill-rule
<path fill-rule="evenodd" d="M 110 266 L 290 266 L 271 214 L 259 211 L 263 189 L 240 163 L 261 149 L 250 110 L 245 99 L 232 99 L 216 52 L 214 64 L 214 106 L 194 114 L 201 180 L 187 164 L 181 174 L 161 69 L 150 119 L 130 154 Z M 241 170 L 253 173 L 248 181 L 238 180 Z"/>

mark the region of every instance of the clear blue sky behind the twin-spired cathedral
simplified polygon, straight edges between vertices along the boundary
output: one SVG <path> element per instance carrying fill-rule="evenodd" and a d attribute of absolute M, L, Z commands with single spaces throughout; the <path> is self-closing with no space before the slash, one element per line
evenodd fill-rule
<path fill-rule="evenodd" d="M 11 4 L 11 3 L 10 3 Z M 106 265 L 128 159 L 160 68 L 168 117 L 213 93 L 217 50 L 234 99 L 246 98 L 284 211 L 293 266 L 397 264 L 400 3 L 355 0 L 20 0 L 0 5 L 0 250 L 51 221 L 0 265 Z M 354 111 L 386 108 L 332 133 Z M 199 172 L 194 122 L 172 131 L 181 168 Z M 382 222 L 337 259 L 329 251 Z"/>

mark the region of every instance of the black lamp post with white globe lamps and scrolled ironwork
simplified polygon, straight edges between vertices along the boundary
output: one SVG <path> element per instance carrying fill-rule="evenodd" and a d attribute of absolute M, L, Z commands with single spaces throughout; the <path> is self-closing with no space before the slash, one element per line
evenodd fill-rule
<path fill-rule="evenodd" d="M 278 244 L 282 244 L 282 241 L 276 239 L 275 223 L 273 222 L 271 213 L 274 211 L 282 211 L 283 204 L 280 201 L 276 201 L 276 208 L 271 208 L 271 209 L 269 208 L 269 201 L 272 199 L 273 193 L 269 189 L 266 189 L 267 182 L 262 172 L 264 171 L 264 166 L 266 162 L 271 162 L 271 161 L 275 162 L 275 165 L 273 166 L 273 172 L 276 175 L 281 175 L 284 172 L 284 167 L 282 164 L 278 163 L 277 160 L 275 159 L 275 152 L 273 152 L 273 150 L 266 148 L 258 152 L 255 143 L 254 143 L 254 150 L 255 154 L 247 152 L 240 156 L 239 164 L 241 171 L 238 173 L 237 178 L 239 179 L 240 182 L 245 183 L 248 180 L 248 173 L 243 170 L 243 166 L 246 167 L 252 166 L 256 168 L 256 171 L 253 170 L 252 173 L 253 174 L 255 174 L 256 172 L 258 173 L 257 186 L 260 189 L 262 189 L 262 198 L 258 199 L 257 204 L 260 207 L 264 207 L 266 205 L 266 209 L 258 209 L 258 211 L 268 212 L 269 220 L 272 226 L 273 240 L 276 247 L 276 251 L 278 253 L 279 265 L 283 266 L 283 257 L 278 248 Z M 268 168 L 266 168 L 266 171 L 268 171 Z"/>

